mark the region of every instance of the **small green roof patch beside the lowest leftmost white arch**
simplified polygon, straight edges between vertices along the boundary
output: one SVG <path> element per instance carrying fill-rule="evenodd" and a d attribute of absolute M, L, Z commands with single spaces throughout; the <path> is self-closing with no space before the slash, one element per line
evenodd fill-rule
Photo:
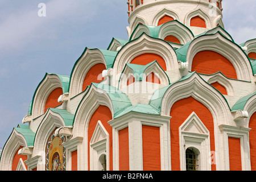
<path fill-rule="evenodd" d="M 18 125 L 18 127 L 15 127 L 14 130 L 23 135 L 23 137 L 26 139 L 27 147 L 34 146 L 35 133 L 29 128 L 28 125 Z"/>

